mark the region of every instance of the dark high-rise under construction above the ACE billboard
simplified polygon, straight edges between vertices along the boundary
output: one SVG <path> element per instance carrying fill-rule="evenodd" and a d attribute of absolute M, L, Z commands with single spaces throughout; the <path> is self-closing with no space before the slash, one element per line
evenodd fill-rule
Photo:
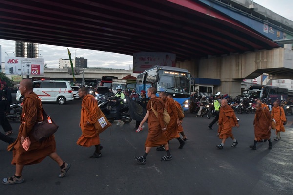
<path fill-rule="evenodd" d="M 24 58 L 38 58 L 39 44 L 24 41 L 15 41 L 15 56 Z"/>

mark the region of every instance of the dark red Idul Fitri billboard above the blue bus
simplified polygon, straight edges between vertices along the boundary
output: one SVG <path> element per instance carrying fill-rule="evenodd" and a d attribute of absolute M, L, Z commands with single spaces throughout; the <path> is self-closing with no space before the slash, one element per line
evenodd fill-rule
<path fill-rule="evenodd" d="M 155 65 L 175 67 L 176 55 L 164 52 L 133 53 L 133 73 L 142 73 Z"/>

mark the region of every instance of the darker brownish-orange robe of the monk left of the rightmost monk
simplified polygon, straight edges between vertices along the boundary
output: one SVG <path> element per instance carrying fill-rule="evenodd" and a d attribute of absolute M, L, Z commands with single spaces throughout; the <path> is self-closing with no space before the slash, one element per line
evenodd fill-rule
<path fill-rule="evenodd" d="M 263 139 L 270 139 L 271 137 L 271 128 L 269 127 L 272 124 L 272 117 L 269 109 L 260 108 L 255 111 L 255 117 L 253 121 L 254 125 L 254 137 L 257 141 Z"/>

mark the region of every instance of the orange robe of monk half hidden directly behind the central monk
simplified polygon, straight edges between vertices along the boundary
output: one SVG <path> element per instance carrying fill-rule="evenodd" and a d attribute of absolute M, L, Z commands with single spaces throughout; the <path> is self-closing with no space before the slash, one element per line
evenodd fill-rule
<path fill-rule="evenodd" d="M 164 131 L 165 136 L 167 138 L 167 141 L 170 141 L 174 138 L 180 137 L 178 134 L 178 124 L 177 124 L 177 119 L 178 119 L 178 114 L 177 114 L 177 108 L 175 105 L 175 102 L 172 99 L 166 98 L 165 100 L 165 109 L 168 111 L 170 115 L 170 122 L 167 124 L 167 129 Z"/>

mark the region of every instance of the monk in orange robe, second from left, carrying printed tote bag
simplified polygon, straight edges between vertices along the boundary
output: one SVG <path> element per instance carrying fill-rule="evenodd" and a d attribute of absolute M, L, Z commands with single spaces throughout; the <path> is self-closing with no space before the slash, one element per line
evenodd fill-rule
<path fill-rule="evenodd" d="M 94 123 L 98 120 L 98 109 L 100 109 L 97 100 L 93 95 L 88 94 L 87 87 L 79 88 L 78 95 L 83 98 L 79 124 L 82 129 L 82 135 L 76 143 L 84 147 L 95 146 L 95 152 L 89 156 L 90 158 L 102 157 L 100 150 L 103 147 L 100 145 L 99 134 L 94 126 Z"/>

